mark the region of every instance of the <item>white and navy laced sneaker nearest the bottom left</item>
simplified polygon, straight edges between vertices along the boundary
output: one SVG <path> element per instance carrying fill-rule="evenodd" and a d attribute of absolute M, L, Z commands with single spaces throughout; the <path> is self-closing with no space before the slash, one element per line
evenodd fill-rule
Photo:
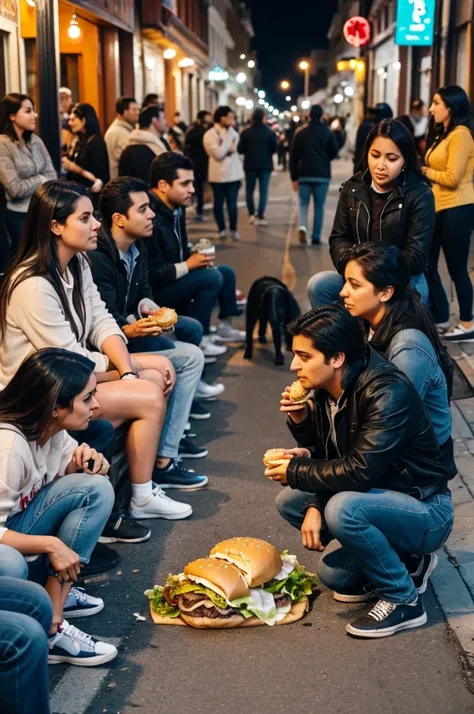
<path fill-rule="evenodd" d="M 78 667 L 95 667 L 110 662 L 118 655 L 117 648 L 87 635 L 67 620 L 48 639 L 48 664 L 68 662 Z"/>

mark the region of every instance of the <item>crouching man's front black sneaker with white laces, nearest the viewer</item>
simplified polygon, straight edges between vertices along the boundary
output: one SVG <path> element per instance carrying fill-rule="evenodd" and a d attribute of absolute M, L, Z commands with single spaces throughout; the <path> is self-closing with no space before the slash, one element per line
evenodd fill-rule
<path fill-rule="evenodd" d="M 421 597 L 414 605 L 394 605 L 379 600 L 366 615 L 346 625 L 346 632 L 354 637 L 390 637 L 400 630 L 420 627 L 426 619 Z"/>

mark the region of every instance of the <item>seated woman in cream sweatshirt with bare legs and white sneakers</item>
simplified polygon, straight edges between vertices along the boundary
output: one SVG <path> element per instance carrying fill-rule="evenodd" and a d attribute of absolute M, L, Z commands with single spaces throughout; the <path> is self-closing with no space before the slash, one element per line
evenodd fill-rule
<path fill-rule="evenodd" d="M 186 518 L 188 504 L 169 499 L 152 475 L 175 374 L 166 357 L 130 356 L 127 338 L 107 311 L 84 253 L 97 247 L 99 221 L 87 189 L 48 181 L 33 195 L 23 240 L 0 290 L 0 383 L 41 347 L 62 347 L 94 362 L 100 407 L 94 418 L 130 422 L 126 451 L 135 518 Z M 140 379 L 138 379 L 140 377 Z M 118 517 L 120 541 L 150 531 Z M 137 533 L 137 527 L 139 532 Z"/>

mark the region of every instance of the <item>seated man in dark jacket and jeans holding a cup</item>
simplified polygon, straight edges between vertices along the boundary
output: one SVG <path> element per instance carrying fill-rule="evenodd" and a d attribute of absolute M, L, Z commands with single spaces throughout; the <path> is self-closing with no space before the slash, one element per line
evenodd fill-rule
<path fill-rule="evenodd" d="M 191 253 L 188 247 L 183 209 L 194 196 L 193 165 L 186 156 L 173 151 L 162 154 L 153 161 L 150 183 L 156 220 L 148 246 L 148 272 L 155 300 L 199 320 L 204 330 L 201 347 L 205 357 L 224 354 L 227 348 L 214 340 L 243 342 L 245 332 L 231 325 L 231 318 L 240 314 L 232 268 L 213 267 L 214 253 Z M 220 324 L 211 338 L 211 314 L 216 301 Z"/>

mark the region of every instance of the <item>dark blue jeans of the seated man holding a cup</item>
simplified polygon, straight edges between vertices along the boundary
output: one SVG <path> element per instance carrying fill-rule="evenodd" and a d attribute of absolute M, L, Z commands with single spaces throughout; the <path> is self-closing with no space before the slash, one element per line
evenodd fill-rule
<path fill-rule="evenodd" d="M 191 270 L 155 293 L 154 297 L 158 304 L 174 307 L 180 313 L 195 317 L 205 335 L 209 334 L 211 315 L 217 301 L 221 320 L 240 314 L 235 298 L 235 272 L 227 265 Z"/>

